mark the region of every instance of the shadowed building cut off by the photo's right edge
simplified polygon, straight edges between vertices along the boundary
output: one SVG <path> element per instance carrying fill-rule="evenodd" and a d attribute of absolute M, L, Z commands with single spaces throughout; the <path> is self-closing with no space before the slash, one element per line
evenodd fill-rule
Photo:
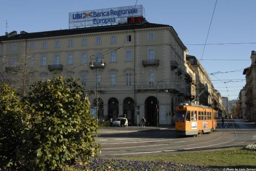
<path fill-rule="evenodd" d="M 251 66 L 244 69 L 246 78 L 246 118 L 252 122 L 256 121 L 256 52 L 251 51 Z"/>

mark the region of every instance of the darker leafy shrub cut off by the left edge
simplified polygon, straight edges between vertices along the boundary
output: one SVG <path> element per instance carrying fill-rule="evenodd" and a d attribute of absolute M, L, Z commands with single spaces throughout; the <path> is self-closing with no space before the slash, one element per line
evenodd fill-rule
<path fill-rule="evenodd" d="M 25 113 L 16 91 L 7 85 L 0 87 L 0 170 L 20 167 L 17 152 L 22 145 Z"/>

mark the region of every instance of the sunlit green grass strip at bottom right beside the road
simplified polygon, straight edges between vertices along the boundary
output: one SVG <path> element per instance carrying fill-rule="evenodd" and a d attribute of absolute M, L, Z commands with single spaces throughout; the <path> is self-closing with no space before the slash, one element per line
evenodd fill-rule
<path fill-rule="evenodd" d="M 256 168 L 256 152 L 244 150 L 244 148 L 230 148 L 203 152 L 182 152 L 143 157 L 122 157 L 120 159 L 175 162 L 214 168 Z"/>

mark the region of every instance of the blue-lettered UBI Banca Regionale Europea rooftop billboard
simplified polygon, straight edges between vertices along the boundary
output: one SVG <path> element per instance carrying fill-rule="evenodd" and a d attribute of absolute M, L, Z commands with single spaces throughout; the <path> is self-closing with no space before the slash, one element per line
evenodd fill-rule
<path fill-rule="evenodd" d="M 143 16 L 142 5 L 70 12 L 69 28 L 116 25 L 137 16 Z"/>

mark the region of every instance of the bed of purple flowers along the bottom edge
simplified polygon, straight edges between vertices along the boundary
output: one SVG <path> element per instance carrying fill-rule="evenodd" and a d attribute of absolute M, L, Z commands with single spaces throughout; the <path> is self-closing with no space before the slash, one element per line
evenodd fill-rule
<path fill-rule="evenodd" d="M 85 166 L 75 165 L 78 170 L 216 170 L 200 165 L 175 164 L 162 161 L 132 161 L 119 159 L 92 159 Z"/>

